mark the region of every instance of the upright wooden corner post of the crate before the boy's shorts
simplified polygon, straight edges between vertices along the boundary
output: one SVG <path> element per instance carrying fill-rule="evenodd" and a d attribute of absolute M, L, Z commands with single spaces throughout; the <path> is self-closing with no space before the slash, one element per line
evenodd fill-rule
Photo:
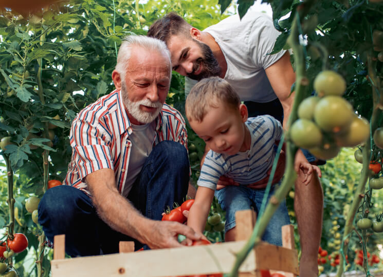
<path fill-rule="evenodd" d="M 256 224 L 256 212 L 242 210 L 235 213 L 235 241 L 245 241 L 251 236 Z"/>

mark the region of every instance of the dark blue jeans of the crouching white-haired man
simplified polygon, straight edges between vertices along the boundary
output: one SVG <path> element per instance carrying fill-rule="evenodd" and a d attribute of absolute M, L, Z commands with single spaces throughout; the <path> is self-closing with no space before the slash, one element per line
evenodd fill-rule
<path fill-rule="evenodd" d="M 143 215 L 161 220 L 167 206 L 183 202 L 188 183 L 186 148 L 163 141 L 153 148 L 127 199 Z M 57 186 L 47 190 L 38 210 L 39 224 L 47 238 L 53 242 L 54 235 L 65 234 L 65 251 L 70 256 L 117 253 L 120 241 L 134 241 L 136 250 L 143 246 L 102 221 L 92 199 L 77 188 Z"/>

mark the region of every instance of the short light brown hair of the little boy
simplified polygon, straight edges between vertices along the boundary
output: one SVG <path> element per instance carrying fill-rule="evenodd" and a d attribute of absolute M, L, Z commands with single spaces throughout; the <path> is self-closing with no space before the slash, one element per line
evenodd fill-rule
<path fill-rule="evenodd" d="M 209 108 L 227 105 L 237 110 L 240 97 L 233 87 L 220 77 L 210 77 L 199 81 L 186 98 L 185 112 L 189 121 L 202 122 Z"/>

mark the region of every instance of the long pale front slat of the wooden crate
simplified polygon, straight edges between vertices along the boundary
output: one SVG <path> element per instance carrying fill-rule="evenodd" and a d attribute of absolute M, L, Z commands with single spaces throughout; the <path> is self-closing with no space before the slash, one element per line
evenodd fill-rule
<path fill-rule="evenodd" d="M 174 276 L 230 272 L 245 241 L 52 260 L 53 277 Z M 253 272 L 254 250 L 240 272 Z"/>

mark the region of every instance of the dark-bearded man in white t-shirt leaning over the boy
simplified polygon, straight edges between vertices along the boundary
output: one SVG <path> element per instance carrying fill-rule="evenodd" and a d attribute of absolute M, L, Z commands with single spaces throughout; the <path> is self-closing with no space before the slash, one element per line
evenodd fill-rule
<path fill-rule="evenodd" d="M 220 76 L 245 101 L 249 116 L 270 114 L 283 122 L 286 128 L 294 101 L 294 93 L 290 95 L 290 88 L 295 82 L 295 73 L 287 51 L 269 55 L 278 35 L 271 18 L 252 8 L 242 19 L 238 14 L 233 15 L 204 31 L 194 28 L 177 14 L 170 13 L 156 21 L 148 31 L 148 36 L 159 38 L 167 44 L 173 70 L 187 76 L 186 93 L 198 80 Z M 317 162 L 314 156 L 308 152 L 305 154 L 308 162 Z M 301 151 L 297 159 L 304 161 Z M 323 192 L 316 174 L 320 174 L 320 170 L 314 165 L 312 169 L 315 177 L 311 183 L 305 186 L 303 174 L 300 174 L 295 186 L 302 277 L 318 274 Z M 224 177 L 218 182 L 221 187 L 230 184 L 234 183 Z M 266 184 L 267 180 L 253 187 L 262 188 Z"/>

